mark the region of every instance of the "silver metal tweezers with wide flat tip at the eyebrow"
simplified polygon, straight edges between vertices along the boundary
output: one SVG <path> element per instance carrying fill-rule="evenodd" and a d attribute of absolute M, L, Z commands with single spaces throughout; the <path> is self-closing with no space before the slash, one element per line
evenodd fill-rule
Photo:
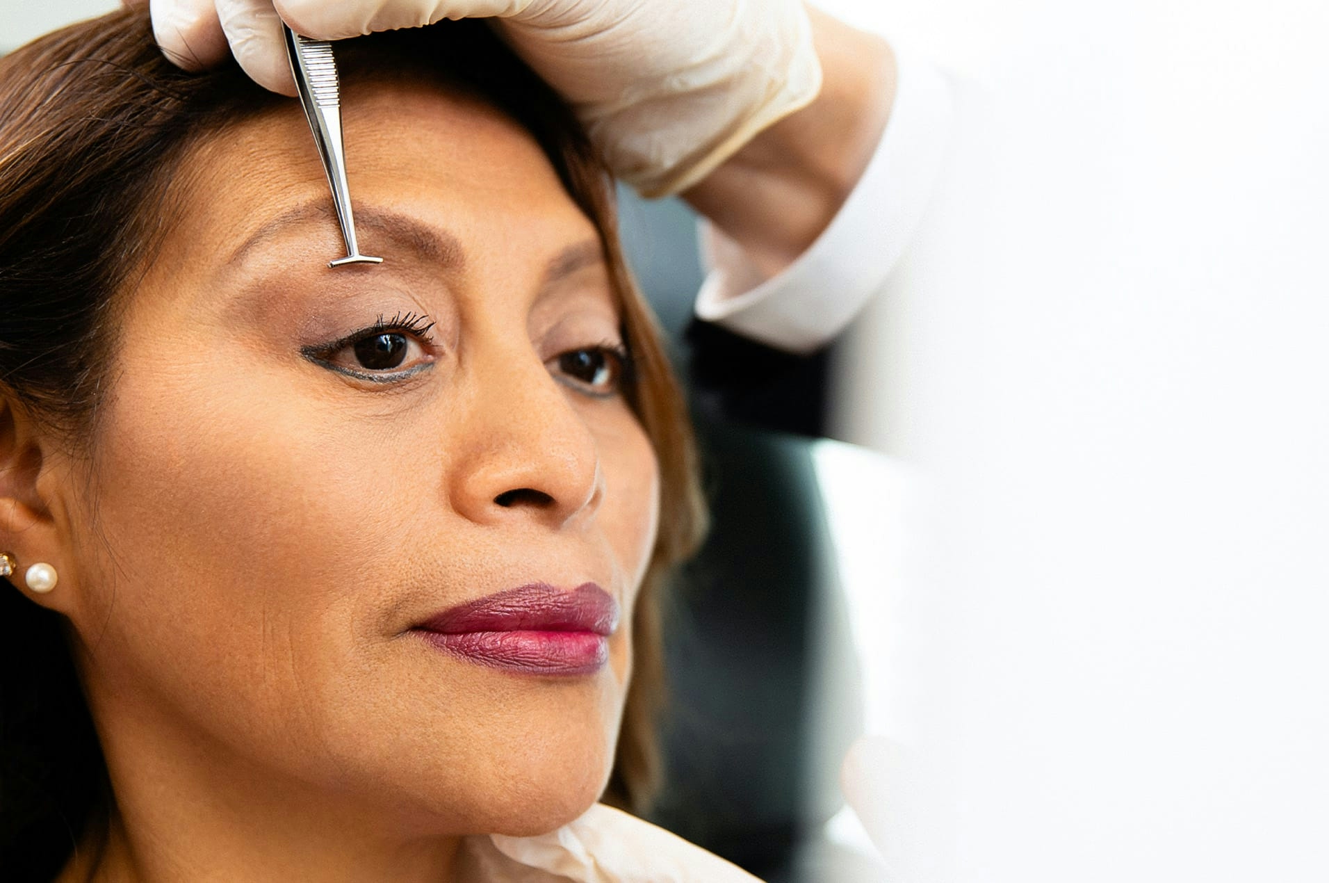
<path fill-rule="evenodd" d="M 332 205 L 336 209 L 338 223 L 342 225 L 342 238 L 346 239 L 347 257 L 330 261 L 330 267 L 347 263 L 383 263 L 383 258 L 360 254 L 355 241 L 355 215 L 351 213 L 351 189 L 346 182 L 346 148 L 342 144 L 342 85 L 336 74 L 336 59 L 332 57 L 332 44 L 320 40 L 307 40 L 284 24 L 286 51 L 291 60 L 291 73 L 300 92 L 304 116 L 314 132 L 323 170 L 332 188 Z"/>

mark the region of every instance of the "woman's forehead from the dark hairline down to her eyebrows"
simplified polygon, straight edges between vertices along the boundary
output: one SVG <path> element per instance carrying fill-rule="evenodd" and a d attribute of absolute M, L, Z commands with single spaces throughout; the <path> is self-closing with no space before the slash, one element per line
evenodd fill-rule
<path fill-rule="evenodd" d="M 544 265 L 599 241 L 534 138 L 488 105 L 431 85 L 361 84 L 344 121 L 360 241 L 376 254 L 437 269 L 468 255 Z M 339 257 L 327 180 L 295 100 L 203 136 L 175 191 L 170 265 L 225 273 L 274 251 Z M 318 257 L 292 249 L 315 241 Z"/>

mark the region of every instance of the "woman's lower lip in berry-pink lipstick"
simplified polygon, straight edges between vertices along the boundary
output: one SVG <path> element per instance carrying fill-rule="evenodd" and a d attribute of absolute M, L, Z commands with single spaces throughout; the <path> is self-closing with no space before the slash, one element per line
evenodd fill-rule
<path fill-rule="evenodd" d="M 609 661 L 609 638 L 594 632 L 421 630 L 425 641 L 469 662 L 521 674 L 594 674 Z"/>

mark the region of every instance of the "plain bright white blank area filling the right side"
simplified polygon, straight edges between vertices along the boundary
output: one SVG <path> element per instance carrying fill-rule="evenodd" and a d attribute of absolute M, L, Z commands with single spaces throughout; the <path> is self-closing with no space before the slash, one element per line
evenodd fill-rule
<path fill-rule="evenodd" d="M 958 98 L 841 402 L 938 516 L 894 879 L 1329 880 L 1329 7 L 855 5 Z"/>

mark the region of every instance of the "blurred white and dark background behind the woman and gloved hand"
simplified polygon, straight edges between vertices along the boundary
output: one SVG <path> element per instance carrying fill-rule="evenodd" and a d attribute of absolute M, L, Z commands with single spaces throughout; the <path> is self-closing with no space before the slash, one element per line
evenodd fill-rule
<path fill-rule="evenodd" d="M 772 880 L 1329 879 L 1329 8 L 819 5 L 953 102 L 841 339 L 696 327 L 695 219 L 623 198 L 718 516 L 659 820 Z"/>

